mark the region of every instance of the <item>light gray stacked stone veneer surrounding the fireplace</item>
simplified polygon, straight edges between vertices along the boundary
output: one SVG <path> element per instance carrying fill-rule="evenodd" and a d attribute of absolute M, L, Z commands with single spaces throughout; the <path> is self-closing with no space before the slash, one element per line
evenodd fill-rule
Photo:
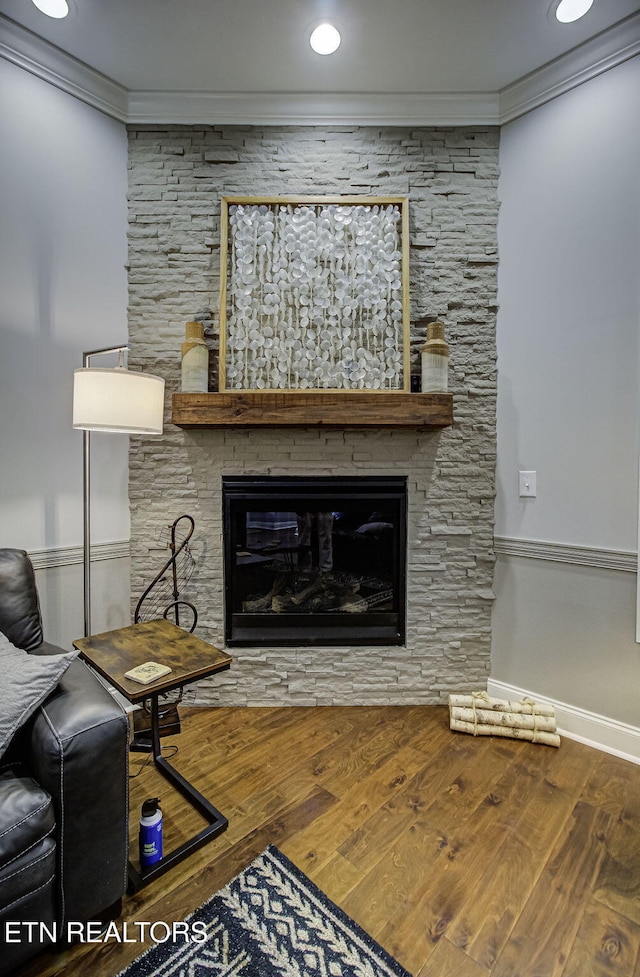
<path fill-rule="evenodd" d="M 197 633 L 223 644 L 223 474 L 406 474 L 409 486 L 406 646 L 234 649 L 231 670 L 202 681 L 199 701 L 437 703 L 450 691 L 485 687 L 498 140 L 493 127 L 131 129 L 130 360 L 167 381 L 164 435 L 131 439 L 134 600 L 168 555 L 166 527 L 189 513 L 197 566 L 183 596 L 198 607 Z M 183 431 L 171 424 L 185 322 L 202 320 L 217 348 L 221 195 L 311 193 L 409 196 L 411 319 L 446 323 L 453 427 Z M 412 327 L 413 372 L 424 339 Z"/>

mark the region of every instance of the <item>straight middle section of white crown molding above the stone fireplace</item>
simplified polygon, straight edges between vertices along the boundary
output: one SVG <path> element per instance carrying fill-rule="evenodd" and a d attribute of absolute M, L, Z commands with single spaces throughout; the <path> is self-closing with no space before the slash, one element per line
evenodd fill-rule
<path fill-rule="evenodd" d="M 129 122 L 208 125 L 498 125 L 497 93 L 135 92 Z"/>

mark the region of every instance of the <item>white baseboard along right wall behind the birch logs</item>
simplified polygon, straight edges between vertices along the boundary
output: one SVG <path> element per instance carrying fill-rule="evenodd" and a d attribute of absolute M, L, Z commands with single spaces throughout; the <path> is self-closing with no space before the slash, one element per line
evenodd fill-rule
<path fill-rule="evenodd" d="M 538 695 L 537 692 L 529 689 L 519 689 L 496 679 L 489 679 L 487 692 L 496 699 L 518 701 L 526 696 L 537 702 L 545 702 L 554 707 L 556 724 L 561 736 L 592 746 L 603 753 L 629 760 L 631 763 L 640 763 L 640 729 L 637 726 L 629 726 L 627 723 L 599 716 L 595 712 L 587 712 L 566 702 L 558 702 L 548 696 Z"/>

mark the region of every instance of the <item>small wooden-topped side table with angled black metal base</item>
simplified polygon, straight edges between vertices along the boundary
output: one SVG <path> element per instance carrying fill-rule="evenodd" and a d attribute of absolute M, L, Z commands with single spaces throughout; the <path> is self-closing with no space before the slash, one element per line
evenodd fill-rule
<path fill-rule="evenodd" d="M 73 644 L 80 652 L 81 658 L 111 682 L 129 702 L 151 700 L 153 762 L 163 777 L 180 791 L 189 804 L 208 822 L 206 828 L 149 868 L 141 868 L 138 871 L 130 861 L 129 888 L 132 892 L 137 892 L 221 834 L 229 823 L 227 818 L 162 756 L 158 697 L 171 689 L 180 688 L 189 682 L 226 670 L 231 665 L 231 657 L 215 645 L 196 638 L 164 618 L 132 624 L 115 631 L 105 631 L 103 634 L 94 634 L 88 638 L 78 638 Z M 171 672 L 148 685 L 139 685 L 124 677 L 125 672 L 147 661 L 168 665 Z"/>

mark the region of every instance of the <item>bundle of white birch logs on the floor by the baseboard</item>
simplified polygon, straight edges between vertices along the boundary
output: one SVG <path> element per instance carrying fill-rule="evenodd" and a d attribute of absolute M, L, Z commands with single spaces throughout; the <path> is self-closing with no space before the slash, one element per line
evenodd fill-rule
<path fill-rule="evenodd" d="M 486 692 L 449 696 L 451 729 L 472 736 L 507 736 L 546 746 L 560 746 L 553 706 L 533 699 L 510 702 Z"/>

